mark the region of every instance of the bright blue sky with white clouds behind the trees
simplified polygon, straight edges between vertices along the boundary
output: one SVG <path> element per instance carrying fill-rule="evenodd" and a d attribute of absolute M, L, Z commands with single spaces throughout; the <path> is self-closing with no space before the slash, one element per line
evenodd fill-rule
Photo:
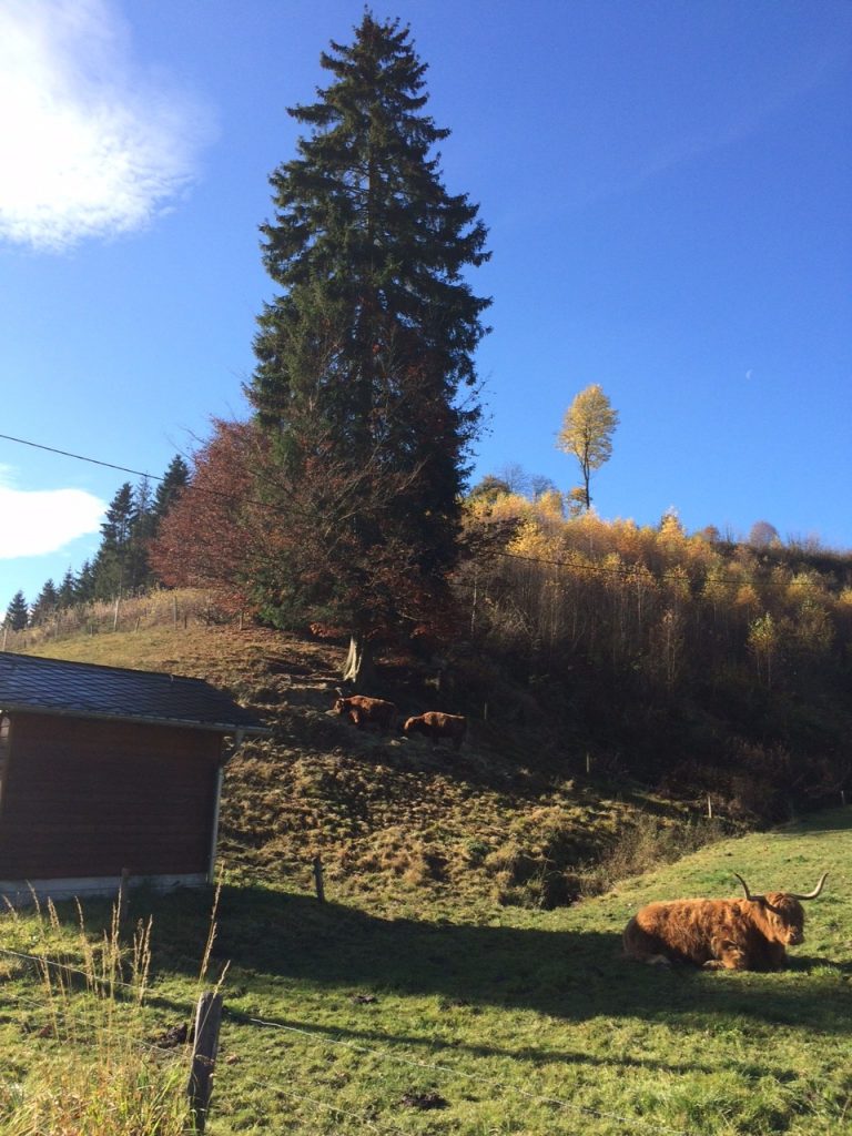
<path fill-rule="evenodd" d="M 5 0 L 0 433 L 161 475 L 245 414 L 258 225 L 349 0 Z M 492 261 L 475 477 L 560 487 L 620 415 L 604 517 L 852 546 L 852 6 L 395 0 Z M 98 546 L 116 470 L 0 440 L 0 608 Z"/>

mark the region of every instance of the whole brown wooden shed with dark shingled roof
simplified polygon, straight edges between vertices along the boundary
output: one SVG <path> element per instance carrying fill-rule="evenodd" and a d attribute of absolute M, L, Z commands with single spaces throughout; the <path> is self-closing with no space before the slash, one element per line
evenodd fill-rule
<path fill-rule="evenodd" d="M 207 883 L 225 738 L 267 733 L 200 679 L 0 651 L 0 895 Z"/>

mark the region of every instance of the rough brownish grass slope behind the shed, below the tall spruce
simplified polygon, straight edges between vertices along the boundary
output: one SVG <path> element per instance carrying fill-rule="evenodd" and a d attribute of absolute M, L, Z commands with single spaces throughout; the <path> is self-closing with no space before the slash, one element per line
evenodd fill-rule
<path fill-rule="evenodd" d="M 567 776 L 550 724 L 471 720 L 462 750 L 356 730 L 331 713 L 342 648 L 251 627 L 190 624 L 32 645 L 59 658 L 203 677 L 273 728 L 229 761 L 220 866 L 231 878 L 306 880 L 320 854 L 332 894 L 419 903 L 552 907 L 716 838 L 725 825 L 627 782 Z M 436 708 L 432 676 L 389 659 L 402 715 Z M 437 703 L 444 709 L 452 705 Z M 569 762 L 570 757 L 570 762 Z M 730 826 L 728 826 L 730 827 Z"/>

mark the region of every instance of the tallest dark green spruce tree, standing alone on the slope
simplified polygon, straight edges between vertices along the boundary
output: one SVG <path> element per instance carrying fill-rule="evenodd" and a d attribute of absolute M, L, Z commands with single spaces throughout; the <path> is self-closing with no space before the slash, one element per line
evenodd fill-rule
<path fill-rule="evenodd" d="M 423 620 L 457 558 L 491 301 L 463 275 L 488 258 L 486 229 L 442 183 L 449 131 L 424 111 L 409 30 L 367 12 L 354 31 L 320 57 L 318 101 L 290 110 L 308 133 L 270 178 L 264 262 L 283 291 L 259 317 L 248 393 L 260 491 L 281 507 L 261 609 L 348 627 L 357 680 L 366 644 Z"/>

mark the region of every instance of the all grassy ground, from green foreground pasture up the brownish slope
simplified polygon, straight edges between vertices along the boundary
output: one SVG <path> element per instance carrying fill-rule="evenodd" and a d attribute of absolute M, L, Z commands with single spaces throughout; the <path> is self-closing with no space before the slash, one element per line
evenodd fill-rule
<path fill-rule="evenodd" d="M 566 778 L 535 725 L 501 737 L 474 722 L 457 755 L 329 716 L 332 645 L 191 626 L 44 653 L 203 675 L 274 726 L 227 776 L 211 971 L 229 969 L 212 1136 L 849 1131 L 849 810 L 718 838 L 666 864 L 708 835 L 696 817 L 624 785 L 608 793 L 594 769 Z M 401 709 L 417 709 L 428 676 L 385 674 Z M 317 851 L 324 905 L 307 871 Z M 826 869 L 807 941 L 782 974 L 620 957 L 624 924 L 650 899 L 733 894 L 734 871 L 755 888 L 802 891 Z M 209 910 L 209 895 L 133 896 L 133 916 L 153 914 L 142 1049 L 192 1006 Z M 70 907 L 53 925 L 5 917 L 0 946 L 82 964 L 76 918 Z M 89 942 L 108 921 L 106 905 L 86 910 Z M 67 1050 L 42 991 L 26 961 L 0 955 L 3 1136 L 25 1131 L 9 1119 L 8 1086 L 31 1085 L 42 1058 Z"/>

